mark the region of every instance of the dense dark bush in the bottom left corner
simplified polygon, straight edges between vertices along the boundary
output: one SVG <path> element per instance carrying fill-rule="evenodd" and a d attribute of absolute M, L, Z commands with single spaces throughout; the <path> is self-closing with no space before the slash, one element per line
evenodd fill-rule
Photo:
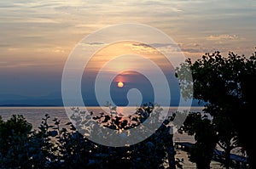
<path fill-rule="evenodd" d="M 8 121 L 0 118 L 0 168 L 30 166 L 31 130 L 32 125 L 22 115 L 12 115 Z"/>

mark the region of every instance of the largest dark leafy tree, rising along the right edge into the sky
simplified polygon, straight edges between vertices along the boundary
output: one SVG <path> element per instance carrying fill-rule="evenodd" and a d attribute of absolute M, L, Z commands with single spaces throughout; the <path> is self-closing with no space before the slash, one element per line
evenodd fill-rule
<path fill-rule="evenodd" d="M 247 134 L 246 131 L 253 128 L 256 53 L 249 58 L 230 53 L 224 58 L 219 52 L 215 52 L 205 54 L 194 63 L 187 59 L 183 66 L 177 69 L 177 75 L 183 75 L 183 72 L 188 70 L 192 72 L 193 83 L 187 82 L 185 76 L 178 76 L 182 90 L 189 91 L 187 89 L 193 84 L 194 98 L 208 103 L 205 112 L 211 113 L 213 118 L 219 115 L 229 117 L 237 132 L 239 145 L 247 151 L 250 167 L 255 167 L 253 133 Z M 188 97 L 192 95 L 183 93 Z"/>

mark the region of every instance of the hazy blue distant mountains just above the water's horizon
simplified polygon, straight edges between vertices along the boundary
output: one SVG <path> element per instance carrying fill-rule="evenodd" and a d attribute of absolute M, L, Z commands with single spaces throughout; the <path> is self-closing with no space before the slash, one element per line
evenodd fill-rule
<path fill-rule="evenodd" d="M 124 104 L 118 100 L 119 106 Z M 171 106 L 178 106 L 179 100 L 172 99 Z M 98 106 L 95 99 L 86 99 L 87 106 Z M 201 104 L 202 105 L 202 104 Z M 192 106 L 201 106 L 197 100 L 193 100 Z M 49 93 L 44 96 L 23 96 L 18 94 L 0 94 L 0 106 L 63 106 L 61 93 Z"/>

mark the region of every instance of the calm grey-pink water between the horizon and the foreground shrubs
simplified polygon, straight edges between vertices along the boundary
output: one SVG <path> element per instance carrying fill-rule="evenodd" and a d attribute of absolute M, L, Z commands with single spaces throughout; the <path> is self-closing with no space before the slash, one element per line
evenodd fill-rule
<path fill-rule="evenodd" d="M 177 107 L 164 107 L 164 109 L 168 109 L 169 112 L 175 112 L 177 111 Z M 66 109 L 71 109 L 67 108 Z M 67 127 L 65 124 L 67 122 L 70 122 L 66 109 L 64 107 L 0 107 L 0 116 L 2 116 L 3 121 L 8 120 L 12 115 L 23 115 L 26 118 L 26 121 L 32 124 L 33 129 L 37 130 L 42 122 L 42 118 L 44 118 L 44 115 L 48 114 L 50 116 L 49 118 L 49 125 L 54 124 L 55 117 L 61 120 L 60 127 Z M 190 111 L 202 111 L 203 107 L 191 107 L 191 108 L 185 108 L 189 109 Z M 92 111 L 94 113 L 101 113 L 102 110 L 109 112 L 108 107 L 86 107 L 86 110 L 88 112 Z M 123 115 L 130 115 L 135 113 L 137 110 L 137 107 L 117 107 L 117 112 Z M 186 134 L 179 134 L 177 132 L 174 132 L 173 135 L 173 141 L 174 142 L 190 142 L 194 143 L 194 137 L 188 136 Z"/>

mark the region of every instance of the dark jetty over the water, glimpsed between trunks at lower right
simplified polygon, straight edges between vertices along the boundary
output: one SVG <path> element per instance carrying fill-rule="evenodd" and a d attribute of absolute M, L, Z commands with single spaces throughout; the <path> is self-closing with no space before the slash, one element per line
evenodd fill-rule
<path fill-rule="evenodd" d="M 183 151 L 189 152 L 189 149 L 194 146 L 194 144 L 189 142 L 175 142 L 174 143 L 176 149 L 182 149 Z M 218 161 L 220 163 L 223 163 L 224 161 L 224 151 L 219 149 L 213 150 L 212 155 L 212 161 Z M 247 157 L 236 155 L 236 154 L 230 154 L 230 161 L 231 166 L 234 168 L 248 168 L 248 161 Z"/>

